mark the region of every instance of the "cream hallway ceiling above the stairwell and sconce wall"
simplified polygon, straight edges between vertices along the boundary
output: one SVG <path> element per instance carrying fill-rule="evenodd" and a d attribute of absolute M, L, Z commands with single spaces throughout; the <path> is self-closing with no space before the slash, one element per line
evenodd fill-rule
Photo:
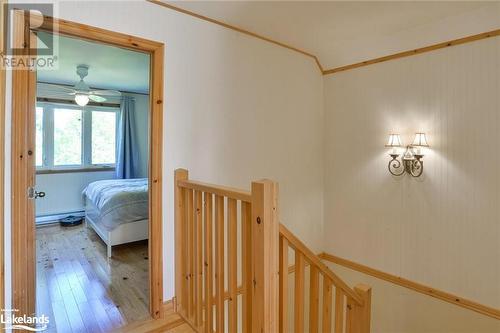
<path fill-rule="evenodd" d="M 164 2 L 312 53 L 324 69 L 500 28 L 500 2 Z"/>

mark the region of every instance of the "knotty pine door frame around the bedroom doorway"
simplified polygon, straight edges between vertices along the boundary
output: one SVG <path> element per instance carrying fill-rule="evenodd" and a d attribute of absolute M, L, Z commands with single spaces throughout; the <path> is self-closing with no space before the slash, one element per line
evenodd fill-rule
<path fill-rule="evenodd" d="M 28 15 L 31 15 L 28 17 Z M 27 18 L 28 17 L 28 18 Z M 15 15 L 13 41 L 23 45 L 33 14 Z M 17 22 L 16 22 L 17 21 Z M 19 28 L 20 27 L 20 28 Z M 149 114 L 149 308 L 159 318 L 163 305 L 162 159 L 163 159 L 163 56 L 164 44 L 67 20 L 44 17 L 36 30 L 127 48 L 150 55 Z M 16 44 L 14 44 L 16 45 Z M 26 54 L 29 41 L 24 43 Z M 36 105 L 36 73 L 12 71 L 12 307 L 35 312 L 35 228 L 33 203 L 26 195 L 34 182 L 35 142 L 30 136 Z M 31 207 L 30 207 L 31 206 Z"/>

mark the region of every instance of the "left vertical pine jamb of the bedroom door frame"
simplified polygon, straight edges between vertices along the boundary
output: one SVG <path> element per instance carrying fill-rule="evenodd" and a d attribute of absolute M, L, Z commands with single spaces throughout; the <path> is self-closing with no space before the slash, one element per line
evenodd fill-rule
<path fill-rule="evenodd" d="M 30 56 L 28 19 L 22 12 L 15 12 L 13 43 L 23 46 L 22 51 L 16 54 L 23 58 Z M 34 113 L 35 106 L 34 75 L 27 68 L 12 71 L 11 256 L 12 263 L 15 263 L 12 265 L 12 308 L 27 315 L 35 312 L 35 215 L 34 203 L 26 195 L 28 187 L 33 186 L 35 172 L 34 155 L 29 154 L 34 151 L 33 140 L 28 139 L 32 132 L 28 126 L 29 114 Z"/>

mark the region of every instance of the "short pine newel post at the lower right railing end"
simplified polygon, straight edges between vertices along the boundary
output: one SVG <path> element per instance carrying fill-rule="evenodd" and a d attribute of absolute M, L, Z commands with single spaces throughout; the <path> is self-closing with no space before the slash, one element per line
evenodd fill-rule
<path fill-rule="evenodd" d="M 372 288 L 360 283 L 354 287 L 354 291 L 363 300 L 363 305 L 359 305 L 353 299 L 348 298 L 346 331 L 348 333 L 370 333 Z"/>

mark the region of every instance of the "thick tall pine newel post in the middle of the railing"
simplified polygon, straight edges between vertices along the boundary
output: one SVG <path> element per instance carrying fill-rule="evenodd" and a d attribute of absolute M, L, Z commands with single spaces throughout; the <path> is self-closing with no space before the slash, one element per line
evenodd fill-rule
<path fill-rule="evenodd" d="M 252 332 L 279 329 L 278 184 L 252 183 Z"/>

